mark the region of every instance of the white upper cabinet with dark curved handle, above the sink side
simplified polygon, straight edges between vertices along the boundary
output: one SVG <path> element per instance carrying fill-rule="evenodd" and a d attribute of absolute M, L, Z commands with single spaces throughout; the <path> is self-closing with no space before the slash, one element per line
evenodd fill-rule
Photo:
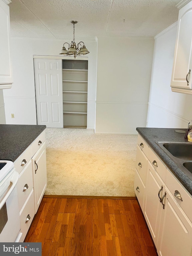
<path fill-rule="evenodd" d="M 187 4 L 186 4 L 187 3 Z M 171 89 L 192 94 L 192 1 L 183 0 L 179 10 Z"/>

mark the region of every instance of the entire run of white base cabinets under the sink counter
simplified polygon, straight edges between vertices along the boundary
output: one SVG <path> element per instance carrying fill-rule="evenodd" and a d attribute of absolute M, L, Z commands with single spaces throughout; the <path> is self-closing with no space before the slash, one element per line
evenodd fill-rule
<path fill-rule="evenodd" d="M 140 135 L 137 143 L 134 190 L 158 255 L 191 256 L 192 196 Z M 146 158 L 148 168 L 142 170 Z M 175 191 L 182 200 L 174 195 Z"/>

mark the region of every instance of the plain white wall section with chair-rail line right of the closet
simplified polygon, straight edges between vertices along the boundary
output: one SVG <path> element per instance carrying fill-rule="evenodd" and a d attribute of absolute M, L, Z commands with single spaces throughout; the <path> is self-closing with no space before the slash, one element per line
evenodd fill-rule
<path fill-rule="evenodd" d="M 153 38 L 98 37 L 96 133 L 146 126 L 153 47 Z"/>

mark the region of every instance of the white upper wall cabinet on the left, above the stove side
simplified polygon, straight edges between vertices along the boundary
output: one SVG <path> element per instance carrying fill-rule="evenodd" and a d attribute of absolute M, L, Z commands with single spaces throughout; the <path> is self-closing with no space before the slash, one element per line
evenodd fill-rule
<path fill-rule="evenodd" d="M 0 89 L 11 88 L 13 83 L 10 61 L 10 0 L 0 0 Z"/>

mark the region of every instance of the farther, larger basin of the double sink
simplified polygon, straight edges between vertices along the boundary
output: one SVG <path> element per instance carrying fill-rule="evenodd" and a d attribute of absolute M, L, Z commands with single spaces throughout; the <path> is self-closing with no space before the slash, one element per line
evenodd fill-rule
<path fill-rule="evenodd" d="M 163 143 L 166 148 L 173 156 L 184 159 L 192 160 L 192 143 L 175 143 L 167 142 Z"/>

